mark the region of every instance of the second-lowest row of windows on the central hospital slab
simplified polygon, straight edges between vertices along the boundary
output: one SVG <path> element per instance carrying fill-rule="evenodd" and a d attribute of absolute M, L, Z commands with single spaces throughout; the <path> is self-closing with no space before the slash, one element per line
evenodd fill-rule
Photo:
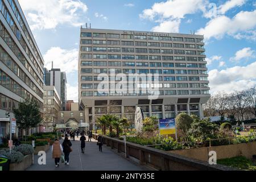
<path fill-rule="evenodd" d="M 110 89 L 110 88 L 117 88 L 122 89 L 124 87 L 126 88 L 208 88 L 209 85 L 206 83 L 193 83 L 193 84 L 187 84 L 187 83 L 177 83 L 177 84 L 81 84 L 82 89 Z"/>

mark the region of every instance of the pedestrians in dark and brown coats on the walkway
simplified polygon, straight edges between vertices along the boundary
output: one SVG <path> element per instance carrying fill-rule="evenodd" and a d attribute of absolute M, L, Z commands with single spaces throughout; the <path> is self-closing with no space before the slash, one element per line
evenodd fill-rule
<path fill-rule="evenodd" d="M 85 143 L 86 136 L 88 136 L 88 142 L 92 142 L 92 131 L 85 130 L 61 130 L 61 132 L 65 135 L 64 141 L 61 144 L 58 139 L 52 145 L 52 158 L 55 159 L 55 166 L 60 166 L 60 161 L 65 163 L 65 165 L 69 165 L 69 154 L 72 152 L 72 140 L 75 141 L 75 137 L 79 138 L 81 142 L 81 153 L 85 154 Z M 69 140 L 70 137 L 70 140 Z M 101 135 L 98 137 L 97 146 L 100 152 L 102 152 L 103 139 Z"/>

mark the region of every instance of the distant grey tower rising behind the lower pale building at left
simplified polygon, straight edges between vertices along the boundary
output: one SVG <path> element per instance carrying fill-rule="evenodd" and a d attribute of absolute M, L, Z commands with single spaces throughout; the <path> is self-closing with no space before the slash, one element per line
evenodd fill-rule
<path fill-rule="evenodd" d="M 45 82 L 47 86 L 55 86 L 57 93 L 61 99 L 61 110 L 65 110 L 65 103 L 67 101 L 67 77 L 65 72 L 61 72 L 60 69 L 51 69 L 47 71 L 45 68 Z"/>

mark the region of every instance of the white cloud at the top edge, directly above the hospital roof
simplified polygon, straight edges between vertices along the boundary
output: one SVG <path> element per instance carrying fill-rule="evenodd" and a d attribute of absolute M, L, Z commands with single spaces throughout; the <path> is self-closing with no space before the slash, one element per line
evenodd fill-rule
<path fill-rule="evenodd" d="M 152 30 L 178 32 L 181 19 L 185 18 L 187 14 L 194 14 L 200 10 L 205 11 L 206 3 L 203 0 L 168 0 L 155 3 L 150 9 L 143 10 L 139 17 L 160 23 Z"/>

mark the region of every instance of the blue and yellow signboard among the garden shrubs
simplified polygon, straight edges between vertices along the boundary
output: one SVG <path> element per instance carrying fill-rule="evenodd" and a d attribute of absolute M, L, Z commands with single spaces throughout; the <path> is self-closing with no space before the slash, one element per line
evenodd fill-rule
<path fill-rule="evenodd" d="M 159 120 L 160 135 L 176 134 L 175 119 L 160 119 Z"/>

